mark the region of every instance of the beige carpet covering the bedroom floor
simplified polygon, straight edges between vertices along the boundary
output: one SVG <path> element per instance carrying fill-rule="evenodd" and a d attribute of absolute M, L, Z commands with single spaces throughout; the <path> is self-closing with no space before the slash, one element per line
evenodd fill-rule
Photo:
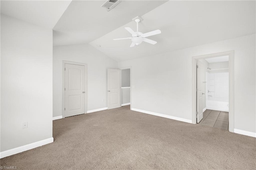
<path fill-rule="evenodd" d="M 256 169 L 256 138 L 129 107 L 53 121 L 53 143 L 0 164 L 24 170 Z"/>

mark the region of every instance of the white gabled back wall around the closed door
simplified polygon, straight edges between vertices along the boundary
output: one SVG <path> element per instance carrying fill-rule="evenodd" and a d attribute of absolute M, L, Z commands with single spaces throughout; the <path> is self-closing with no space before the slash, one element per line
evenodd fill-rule
<path fill-rule="evenodd" d="M 107 107 L 107 69 L 117 62 L 89 44 L 53 47 L 53 117 L 62 115 L 62 61 L 87 64 L 87 110 Z"/>

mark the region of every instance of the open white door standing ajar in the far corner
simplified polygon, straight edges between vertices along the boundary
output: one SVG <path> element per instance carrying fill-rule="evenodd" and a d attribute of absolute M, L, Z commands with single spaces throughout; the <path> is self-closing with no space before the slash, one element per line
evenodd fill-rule
<path fill-rule="evenodd" d="M 121 107 L 120 69 L 108 69 L 108 109 Z"/>

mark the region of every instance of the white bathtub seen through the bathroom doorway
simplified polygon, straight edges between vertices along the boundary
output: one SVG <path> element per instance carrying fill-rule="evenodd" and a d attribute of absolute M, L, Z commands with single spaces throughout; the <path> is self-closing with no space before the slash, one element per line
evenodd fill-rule
<path fill-rule="evenodd" d="M 209 97 L 206 99 L 206 109 L 228 112 L 228 99 Z"/>

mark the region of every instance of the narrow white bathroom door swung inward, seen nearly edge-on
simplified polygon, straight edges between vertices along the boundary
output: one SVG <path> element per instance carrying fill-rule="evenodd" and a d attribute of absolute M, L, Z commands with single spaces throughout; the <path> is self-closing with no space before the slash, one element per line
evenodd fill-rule
<path fill-rule="evenodd" d="M 203 73 L 202 62 L 197 61 L 196 69 L 196 111 L 197 111 L 197 123 L 203 119 Z"/>

